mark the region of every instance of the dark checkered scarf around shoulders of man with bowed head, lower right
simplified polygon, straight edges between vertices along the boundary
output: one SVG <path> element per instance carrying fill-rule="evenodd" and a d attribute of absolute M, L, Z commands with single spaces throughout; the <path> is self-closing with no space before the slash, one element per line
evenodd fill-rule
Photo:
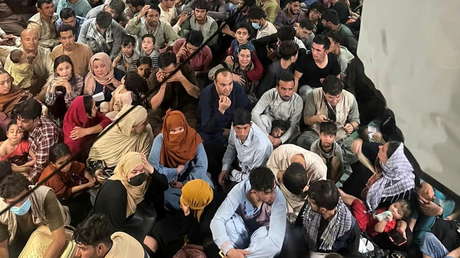
<path fill-rule="evenodd" d="M 316 249 L 316 240 L 318 239 L 318 229 L 321 222 L 321 214 L 313 211 L 308 205 L 303 214 L 303 226 L 306 232 L 307 244 L 310 250 Z M 331 251 L 335 240 L 350 231 L 353 226 L 353 216 L 348 207 L 339 198 L 337 211 L 324 229 L 320 237 L 321 244 L 318 250 Z"/>

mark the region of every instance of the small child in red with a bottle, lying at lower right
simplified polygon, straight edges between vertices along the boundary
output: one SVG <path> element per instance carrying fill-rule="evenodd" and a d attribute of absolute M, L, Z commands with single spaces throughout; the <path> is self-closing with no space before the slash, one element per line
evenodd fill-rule
<path fill-rule="evenodd" d="M 374 214 L 369 212 L 364 202 L 352 195 L 340 191 L 342 200 L 350 206 L 351 213 L 356 218 L 361 231 L 374 237 L 382 232 L 390 232 L 398 227 L 407 227 L 402 220 L 410 215 L 410 206 L 405 200 L 397 201 L 385 209 L 377 209 Z M 400 230 L 398 230 L 400 231 Z"/>

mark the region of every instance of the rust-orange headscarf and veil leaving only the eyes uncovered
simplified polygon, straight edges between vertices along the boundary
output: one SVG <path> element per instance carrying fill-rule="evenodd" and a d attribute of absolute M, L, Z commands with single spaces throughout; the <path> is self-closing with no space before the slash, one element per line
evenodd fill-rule
<path fill-rule="evenodd" d="M 178 134 L 169 134 L 169 130 L 177 127 L 183 127 L 184 131 Z M 196 148 L 201 143 L 201 137 L 195 129 L 188 125 L 182 112 L 177 110 L 166 112 L 162 133 L 161 165 L 176 168 L 195 157 Z"/>

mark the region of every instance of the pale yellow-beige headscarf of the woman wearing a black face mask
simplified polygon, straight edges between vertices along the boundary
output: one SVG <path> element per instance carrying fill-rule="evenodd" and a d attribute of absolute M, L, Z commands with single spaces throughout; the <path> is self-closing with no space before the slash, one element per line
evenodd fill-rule
<path fill-rule="evenodd" d="M 110 180 L 119 180 L 126 188 L 128 193 L 128 205 L 126 206 L 126 217 L 134 214 L 136 206 L 144 200 L 144 194 L 147 190 L 147 180 L 140 186 L 132 186 L 128 183 L 128 174 L 138 165 L 143 164 L 143 154 L 139 152 L 128 152 L 123 155 L 115 167 L 113 176 Z"/>

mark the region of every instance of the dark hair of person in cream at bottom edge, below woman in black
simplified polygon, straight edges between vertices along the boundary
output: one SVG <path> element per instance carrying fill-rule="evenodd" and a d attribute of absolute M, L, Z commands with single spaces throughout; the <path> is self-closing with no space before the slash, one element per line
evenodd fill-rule
<path fill-rule="evenodd" d="M 75 242 L 84 245 L 96 246 L 98 244 L 111 245 L 111 235 L 115 232 L 110 220 L 103 214 L 93 214 L 75 230 Z"/>

